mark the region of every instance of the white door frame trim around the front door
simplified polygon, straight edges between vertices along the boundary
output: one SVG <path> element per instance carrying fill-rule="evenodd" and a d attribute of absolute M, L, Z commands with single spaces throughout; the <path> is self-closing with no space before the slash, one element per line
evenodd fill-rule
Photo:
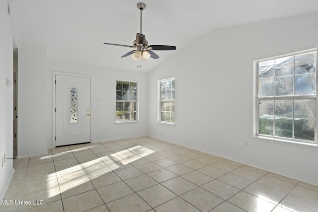
<path fill-rule="evenodd" d="M 55 116 L 55 107 L 56 107 L 56 90 L 55 90 L 55 76 L 56 75 L 67 75 L 67 76 L 81 76 L 81 77 L 87 77 L 90 79 L 89 87 L 90 87 L 90 93 L 89 93 L 89 104 L 90 104 L 90 116 L 91 116 L 91 75 L 86 74 L 78 74 L 78 73 L 67 73 L 67 72 L 59 72 L 59 71 L 53 71 L 52 72 L 52 86 L 53 86 L 53 104 L 52 104 L 52 117 L 53 117 L 53 133 L 52 133 L 52 141 L 53 141 L 53 148 L 56 147 L 56 116 Z M 89 141 L 91 142 L 91 119 L 89 122 Z"/>

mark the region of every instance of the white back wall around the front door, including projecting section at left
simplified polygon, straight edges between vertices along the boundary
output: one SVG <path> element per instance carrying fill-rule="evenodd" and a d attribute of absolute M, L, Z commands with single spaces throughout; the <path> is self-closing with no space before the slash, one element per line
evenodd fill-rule
<path fill-rule="evenodd" d="M 51 60 L 46 47 L 25 43 L 18 58 L 18 156 L 43 155 L 54 146 L 53 71 L 91 76 L 91 142 L 147 135 L 147 74 Z M 139 82 L 139 122 L 115 123 L 116 80 Z"/>

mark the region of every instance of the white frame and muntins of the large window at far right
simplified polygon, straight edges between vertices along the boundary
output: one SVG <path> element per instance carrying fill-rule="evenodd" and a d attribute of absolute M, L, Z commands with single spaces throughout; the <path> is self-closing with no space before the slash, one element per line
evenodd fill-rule
<path fill-rule="evenodd" d="M 309 52 L 315 52 L 316 51 L 316 94 L 306 94 L 306 95 L 277 95 L 277 96 L 258 96 L 258 86 L 259 86 L 259 78 L 258 78 L 258 68 L 259 68 L 259 63 L 263 61 L 269 61 L 269 60 L 274 60 L 274 59 L 280 59 L 288 56 L 295 56 L 299 54 L 305 54 Z M 308 49 L 304 51 L 299 51 L 299 52 L 294 52 L 290 54 L 285 54 L 285 55 L 280 55 L 276 57 L 271 57 L 271 58 L 266 58 L 266 59 L 261 59 L 261 60 L 256 60 L 253 62 L 253 137 L 260 138 L 260 139 L 266 139 L 266 140 L 272 140 L 272 141 L 284 141 L 284 142 L 290 142 L 290 143 L 297 143 L 297 144 L 305 144 L 305 145 L 311 145 L 311 146 L 318 146 L 317 142 L 317 133 L 318 133 L 318 114 L 317 114 L 317 109 L 318 109 L 318 101 L 317 101 L 317 92 L 318 92 L 318 76 L 317 76 L 317 63 L 318 63 L 318 54 L 317 54 L 317 48 L 313 49 Z M 295 77 L 295 72 L 293 73 L 293 80 Z M 275 82 L 275 77 L 274 76 L 274 82 Z M 293 84 L 293 90 L 295 89 L 295 84 Z M 301 100 L 301 99 L 315 99 L 315 106 L 316 106 L 316 114 L 315 114 L 315 139 L 314 141 L 308 141 L 308 140 L 301 140 L 301 139 L 295 139 L 294 138 L 294 120 L 297 120 L 294 116 L 294 109 L 293 109 L 293 138 L 285 138 L 285 137 L 278 137 L 278 136 L 270 136 L 270 135 L 262 135 L 259 134 L 259 101 L 260 100 L 266 100 L 266 99 L 273 99 L 273 100 L 283 100 L 283 99 L 292 99 L 293 100 L 293 107 L 294 107 L 294 101 L 295 100 Z M 274 114 L 273 114 L 274 117 Z M 273 125 L 274 126 L 274 125 Z"/>

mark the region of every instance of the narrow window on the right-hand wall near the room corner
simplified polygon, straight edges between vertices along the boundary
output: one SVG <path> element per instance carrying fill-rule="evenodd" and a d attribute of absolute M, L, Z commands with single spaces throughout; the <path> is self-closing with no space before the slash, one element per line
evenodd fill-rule
<path fill-rule="evenodd" d="M 160 122 L 174 123 L 174 78 L 159 81 Z"/>

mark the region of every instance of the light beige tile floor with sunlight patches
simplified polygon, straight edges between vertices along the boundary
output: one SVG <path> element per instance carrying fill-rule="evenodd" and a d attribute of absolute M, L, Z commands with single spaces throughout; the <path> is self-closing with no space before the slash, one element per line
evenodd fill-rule
<path fill-rule="evenodd" d="M 150 137 L 13 165 L 1 212 L 318 212 L 318 186 Z"/>

